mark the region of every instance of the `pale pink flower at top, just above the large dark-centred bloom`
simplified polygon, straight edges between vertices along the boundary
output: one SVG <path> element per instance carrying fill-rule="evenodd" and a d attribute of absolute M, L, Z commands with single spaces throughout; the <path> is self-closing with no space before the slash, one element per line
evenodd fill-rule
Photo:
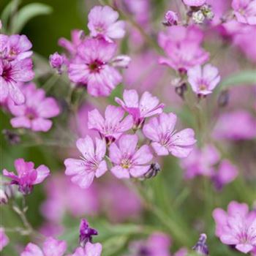
<path fill-rule="evenodd" d="M 108 6 L 96 6 L 88 15 L 88 28 L 91 37 L 103 37 L 107 41 L 124 37 L 125 23 L 118 20 L 118 12 Z"/>

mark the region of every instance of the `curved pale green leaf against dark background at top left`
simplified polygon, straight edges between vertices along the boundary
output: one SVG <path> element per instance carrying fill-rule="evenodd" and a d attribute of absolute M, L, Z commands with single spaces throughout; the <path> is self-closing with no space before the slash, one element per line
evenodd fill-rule
<path fill-rule="evenodd" d="M 13 33 L 19 33 L 26 23 L 38 15 L 48 15 L 52 8 L 47 4 L 33 3 L 27 4 L 21 8 L 15 18 L 15 26 L 12 28 Z"/>

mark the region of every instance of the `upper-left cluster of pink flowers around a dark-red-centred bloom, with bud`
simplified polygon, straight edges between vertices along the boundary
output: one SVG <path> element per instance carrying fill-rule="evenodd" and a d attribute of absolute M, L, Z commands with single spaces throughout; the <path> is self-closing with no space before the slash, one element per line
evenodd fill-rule
<path fill-rule="evenodd" d="M 59 39 L 59 45 L 67 50 L 64 56 L 54 53 L 50 65 L 60 71 L 65 64 L 69 79 L 86 86 L 94 97 L 108 97 L 121 83 L 117 67 L 126 68 L 129 56 L 116 56 L 115 39 L 124 37 L 125 23 L 118 20 L 118 12 L 111 7 L 96 6 L 88 15 L 89 36 L 83 31 L 72 31 L 72 42 Z"/>

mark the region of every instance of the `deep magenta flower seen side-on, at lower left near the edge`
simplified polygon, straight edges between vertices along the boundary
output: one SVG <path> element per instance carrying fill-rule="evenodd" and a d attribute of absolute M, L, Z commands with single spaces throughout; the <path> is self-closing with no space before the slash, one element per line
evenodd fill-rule
<path fill-rule="evenodd" d="M 25 162 L 22 158 L 16 159 L 14 165 L 18 176 L 6 169 L 3 170 L 3 175 L 11 178 L 11 184 L 18 185 L 23 195 L 31 193 L 34 185 L 42 183 L 50 175 L 50 170 L 45 165 L 39 165 L 35 169 L 33 162 Z"/>

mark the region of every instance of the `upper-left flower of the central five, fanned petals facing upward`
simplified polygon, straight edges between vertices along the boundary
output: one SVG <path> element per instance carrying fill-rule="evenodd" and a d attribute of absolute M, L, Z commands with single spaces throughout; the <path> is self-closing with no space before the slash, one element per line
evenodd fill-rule
<path fill-rule="evenodd" d="M 131 129 L 133 125 L 132 116 L 124 118 L 124 110 L 120 107 L 108 105 L 105 110 L 105 118 L 97 109 L 88 113 L 88 127 L 99 132 L 107 143 L 117 140 L 123 132 Z"/>

